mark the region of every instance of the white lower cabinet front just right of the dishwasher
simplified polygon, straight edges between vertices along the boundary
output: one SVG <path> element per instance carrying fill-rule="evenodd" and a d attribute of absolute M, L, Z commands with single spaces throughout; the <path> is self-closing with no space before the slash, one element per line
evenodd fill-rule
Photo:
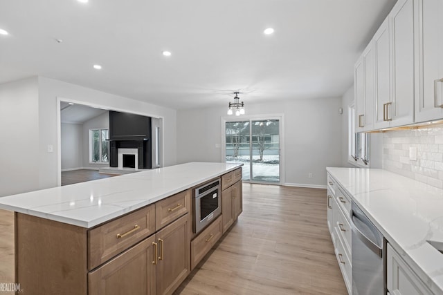
<path fill-rule="evenodd" d="M 406 262 L 399 256 L 388 243 L 387 261 L 387 287 L 388 294 L 417 295 L 433 294 L 422 280 L 413 272 Z"/>

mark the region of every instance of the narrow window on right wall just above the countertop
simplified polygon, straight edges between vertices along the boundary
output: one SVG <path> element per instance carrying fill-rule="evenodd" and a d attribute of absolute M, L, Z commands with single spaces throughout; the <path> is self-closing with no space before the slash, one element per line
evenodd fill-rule
<path fill-rule="evenodd" d="M 348 159 L 357 166 L 368 166 L 370 160 L 370 135 L 356 132 L 356 111 L 352 104 L 348 108 Z"/>

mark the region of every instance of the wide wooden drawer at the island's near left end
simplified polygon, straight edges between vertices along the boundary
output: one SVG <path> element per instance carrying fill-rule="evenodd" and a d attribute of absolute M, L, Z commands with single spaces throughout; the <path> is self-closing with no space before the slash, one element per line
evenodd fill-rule
<path fill-rule="evenodd" d="M 88 267 L 93 269 L 155 232 L 154 204 L 88 231 Z"/>

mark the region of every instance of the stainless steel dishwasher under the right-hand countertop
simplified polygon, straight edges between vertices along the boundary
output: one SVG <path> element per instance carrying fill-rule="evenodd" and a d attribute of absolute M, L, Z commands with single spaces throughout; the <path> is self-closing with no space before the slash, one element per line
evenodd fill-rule
<path fill-rule="evenodd" d="M 352 202 L 352 294 L 386 294 L 383 235 Z"/>

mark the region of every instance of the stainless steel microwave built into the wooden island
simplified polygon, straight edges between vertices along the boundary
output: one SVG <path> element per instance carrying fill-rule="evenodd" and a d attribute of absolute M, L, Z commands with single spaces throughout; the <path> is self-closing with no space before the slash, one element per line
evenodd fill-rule
<path fill-rule="evenodd" d="M 197 187 L 193 195 L 195 214 L 192 229 L 197 234 L 221 214 L 220 179 Z"/>

